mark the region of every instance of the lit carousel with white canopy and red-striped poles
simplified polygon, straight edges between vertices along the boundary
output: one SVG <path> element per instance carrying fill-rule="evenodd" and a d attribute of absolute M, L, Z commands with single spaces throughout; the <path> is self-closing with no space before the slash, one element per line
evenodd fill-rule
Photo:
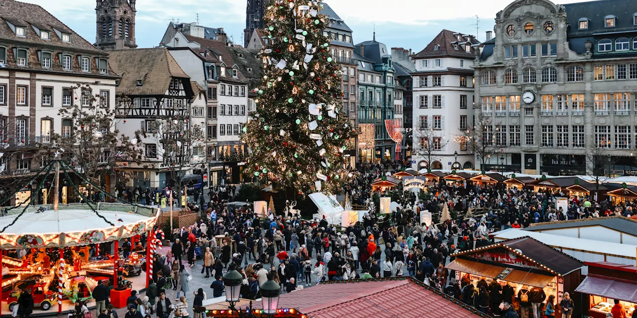
<path fill-rule="evenodd" d="M 161 244 L 153 232 L 159 209 L 91 202 L 83 195 L 82 202 L 59 204 L 60 170 L 70 167 L 54 161 L 48 166 L 49 171 L 55 166 L 52 186 L 57 191 L 53 191 L 52 204 L 32 205 L 33 195 L 22 205 L 1 207 L 0 314 L 11 314 L 20 289 L 32 295 L 34 315 L 67 312 L 78 301 L 90 308 L 95 304 L 92 291 L 98 282 L 110 289 L 114 307 L 125 307 L 131 289 L 147 287 L 152 273 L 152 262 L 145 260 L 154 244 Z M 68 172 L 63 172 L 68 177 Z M 50 175 L 48 171 L 46 175 Z M 32 192 L 38 193 L 41 186 L 43 183 Z M 0 200 L 0 205 L 6 201 Z M 147 238 L 150 249 L 139 244 L 142 237 Z M 131 243 L 130 251 L 120 247 L 126 239 Z M 56 305 L 57 311 L 50 310 Z"/>

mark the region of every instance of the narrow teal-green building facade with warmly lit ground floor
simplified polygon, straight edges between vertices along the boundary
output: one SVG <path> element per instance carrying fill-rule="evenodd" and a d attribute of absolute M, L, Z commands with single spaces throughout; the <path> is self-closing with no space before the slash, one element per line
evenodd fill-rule
<path fill-rule="evenodd" d="M 359 43 L 354 48 L 359 72 L 360 162 L 396 158 L 396 142 L 392 140 L 385 123 L 385 120 L 394 120 L 394 65 L 387 46 L 375 38 Z"/>

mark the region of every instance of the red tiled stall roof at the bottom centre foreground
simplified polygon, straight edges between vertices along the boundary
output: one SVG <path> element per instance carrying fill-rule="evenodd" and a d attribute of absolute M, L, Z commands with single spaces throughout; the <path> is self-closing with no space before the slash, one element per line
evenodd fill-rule
<path fill-rule="evenodd" d="M 253 307 L 262 308 L 261 301 Z M 461 305 L 411 277 L 321 282 L 279 296 L 279 308 L 297 308 L 312 318 L 446 317 L 478 318 Z"/>

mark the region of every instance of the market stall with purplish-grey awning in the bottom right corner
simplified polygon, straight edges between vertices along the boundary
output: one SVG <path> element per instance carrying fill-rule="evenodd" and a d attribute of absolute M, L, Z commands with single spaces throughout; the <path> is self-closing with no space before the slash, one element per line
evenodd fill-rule
<path fill-rule="evenodd" d="M 608 262 L 584 264 L 589 266 L 589 275 L 575 289 L 583 294 L 583 314 L 606 318 L 615 300 L 618 300 L 626 317 L 634 317 L 637 309 L 637 267 Z"/>

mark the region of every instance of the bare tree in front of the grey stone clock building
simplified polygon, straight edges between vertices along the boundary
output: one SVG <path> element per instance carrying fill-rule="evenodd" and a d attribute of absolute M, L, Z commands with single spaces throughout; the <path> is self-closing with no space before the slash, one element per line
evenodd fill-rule
<path fill-rule="evenodd" d="M 474 153 L 483 171 L 487 161 L 506 147 L 506 132 L 501 132 L 498 127 L 499 124 L 493 125 L 490 116 L 479 114 L 473 128 L 466 127 L 462 130 L 463 135 L 455 139 L 466 142 L 467 150 Z"/>

